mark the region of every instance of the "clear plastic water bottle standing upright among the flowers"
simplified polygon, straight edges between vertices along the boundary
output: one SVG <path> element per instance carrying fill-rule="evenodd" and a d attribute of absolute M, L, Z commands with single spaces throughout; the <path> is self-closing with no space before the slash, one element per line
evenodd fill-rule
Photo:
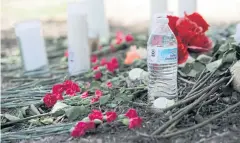
<path fill-rule="evenodd" d="M 173 99 L 177 96 L 177 40 L 166 14 L 155 14 L 148 39 L 148 95 Z"/>

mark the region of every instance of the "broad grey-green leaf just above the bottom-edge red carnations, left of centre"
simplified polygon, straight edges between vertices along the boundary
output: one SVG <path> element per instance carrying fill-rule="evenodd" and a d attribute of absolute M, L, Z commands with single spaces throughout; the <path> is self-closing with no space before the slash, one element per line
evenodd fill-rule
<path fill-rule="evenodd" d="M 71 106 L 65 110 L 65 114 L 70 121 L 79 119 L 81 116 L 86 115 L 89 109 L 85 106 Z"/>

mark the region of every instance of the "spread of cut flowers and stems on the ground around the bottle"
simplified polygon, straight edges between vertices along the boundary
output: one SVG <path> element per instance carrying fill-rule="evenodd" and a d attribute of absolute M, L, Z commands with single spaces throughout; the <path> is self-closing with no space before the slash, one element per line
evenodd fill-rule
<path fill-rule="evenodd" d="M 147 36 L 139 38 L 118 31 L 108 44 L 100 45 L 92 53 L 92 67 L 84 75 L 68 77 L 66 68 L 54 65 L 53 76 L 26 78 L 29 83 L 2 91 L 1 107 L 14 110 L 9 113 L 2 110 L 2 139 L 22 140 L 61 133 L 74 138 L 93 134 L 108 138 L 112 131 L 129 133 L 130 140 L 162 139 L 201 130 L 210 122 L 217 126 L 227 121 L 239 123 L 238 118 L 228 115 L 236 117 L 240 107 L 236 96 L 240 91 L 236 76 L 240 46 L 220 33 L 212 34 L 214 43 L 217 41 L 212 48 L 212 41 L 206 36 L 209 25 L 198 13 L 168 18 L 178 40 L 179 64 L 186 63 L 189 54 L 197 52 L 192 62 L 179 66 L 179 95 L 174 104 L 152 113 L 145 78 Z M 63 50 L 59 50 L 61 56 Z M 213 53 L 205 54 L 210 50 Z M 15 125 L 19 130 L 11 129 Z"/>

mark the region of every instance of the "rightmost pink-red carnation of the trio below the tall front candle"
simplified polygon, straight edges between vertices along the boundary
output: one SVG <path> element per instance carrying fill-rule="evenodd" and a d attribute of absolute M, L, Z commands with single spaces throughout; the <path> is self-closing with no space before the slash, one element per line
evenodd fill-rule
<path fill-rule="evenodd" d="M 80 92 L 80 87 L 71 80 L 66 80 L 63 85 L 66 89 L 66 94 L 69 96 L 75 96 L 77 92 Z"/>

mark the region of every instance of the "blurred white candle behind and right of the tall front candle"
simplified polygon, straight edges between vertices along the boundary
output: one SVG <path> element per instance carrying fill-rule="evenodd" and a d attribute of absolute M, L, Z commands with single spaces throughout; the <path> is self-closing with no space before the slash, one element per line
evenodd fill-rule
<path fill-rule="evenodd" d="M 104 0 L 87 0 L 89 37 L 109 38 L 109 25 L 105 15 Z"/>

